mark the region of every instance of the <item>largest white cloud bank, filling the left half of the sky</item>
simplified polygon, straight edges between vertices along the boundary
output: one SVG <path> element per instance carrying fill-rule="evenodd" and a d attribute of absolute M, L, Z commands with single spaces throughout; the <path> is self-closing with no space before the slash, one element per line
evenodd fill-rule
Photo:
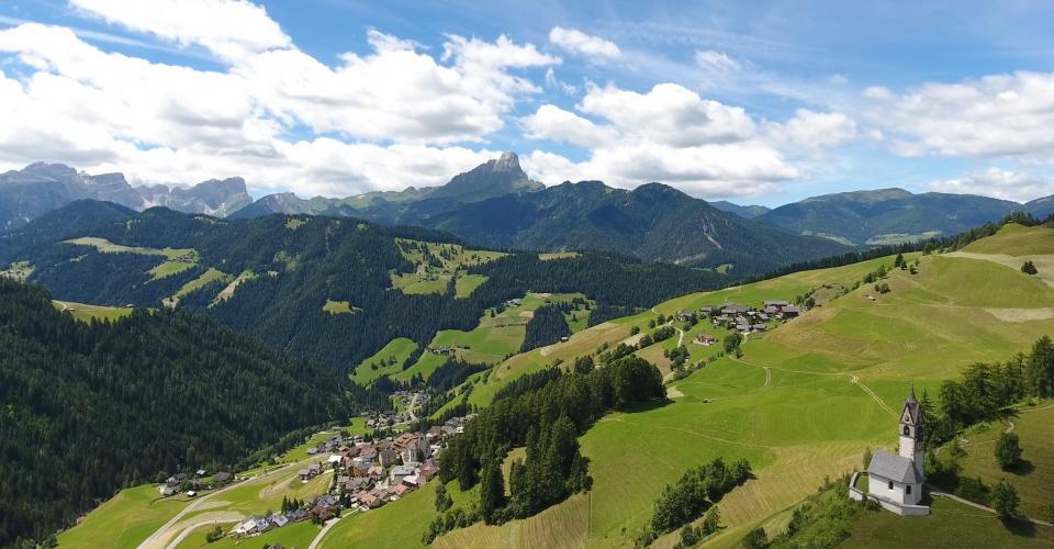
<path fill-rule="evenodd" d="M 180 2 L 200 16 L 171 20 L 164 2 L 154 14 L 126 4 L 77 3 L 128 29 L 201 45 L 226 68 L 109 53 L 59 26 L 0 30 L 0 169 L 64 161 L 124 171 L 138 183 L 244 176 L 257 191 L 307 195 L 440 184 L 496 155 L 460 144 L 483 142 L 537 91 L 513 71 L 559 63 L 505 36 L 448 36 L 437 59 L 371 30 L 370 53 L 344 54 L 330 67 L 277 24 L 277 32 L 248 30 L 269 25 L 247 2 Z M 226 18 L 203 5 L 242 10 L 246 25 L 216 27 L 212 21 Z M 299 137 L 304 127 L 314 136 Z"/>

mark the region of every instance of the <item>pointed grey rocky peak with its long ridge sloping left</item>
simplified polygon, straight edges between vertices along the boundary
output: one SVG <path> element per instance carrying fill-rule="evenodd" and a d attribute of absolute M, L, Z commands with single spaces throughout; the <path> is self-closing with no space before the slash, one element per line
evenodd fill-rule
<path fill-rule="evenodd" d="M 478 202 L 511 193 L 543 189 L 531 181 L 519 166 L 515 153 L 459 173 L 440 187 L 411 187 L 404 191 L 374 191 L 346 199 L 315 197 L 301 199 L 291 192 L 269 194 L 236 212 L 232 217 L 247 219 L 271 213 L 363 216 L 390 224 L 419 225 L 418 220 L 449 211 L 459 204 Z"/>

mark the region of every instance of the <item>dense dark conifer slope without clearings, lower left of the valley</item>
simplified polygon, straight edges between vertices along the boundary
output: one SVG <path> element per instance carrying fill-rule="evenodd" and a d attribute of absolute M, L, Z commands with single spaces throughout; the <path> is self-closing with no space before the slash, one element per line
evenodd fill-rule
<path fill-rule="evenodd" d="M 205 318 L 85 324 L 0 278 L 0 546 L 42 540 L 122 486 L 237 470 L 287 432 L 345 419 L 344 385 Z"/>

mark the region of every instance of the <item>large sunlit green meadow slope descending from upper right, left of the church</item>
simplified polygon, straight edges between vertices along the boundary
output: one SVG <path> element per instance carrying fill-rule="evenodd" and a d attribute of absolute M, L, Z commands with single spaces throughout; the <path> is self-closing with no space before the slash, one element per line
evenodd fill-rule
<path fill-rule="evenodd" d="M 1013 229 L 994 240 L 1012 234 Z M 998 249 L 999 243 L 987 245 Z M 796 273 L 675 299 L 655 310 L 672 314 L 725 300 L 756 304 L 793 299 L 826 283 L 850 285 L 879 264 L 892 262 L 884 258 Z M 729 528 L 713 541 L 735 545 L 749 527 L 810 494 L 825 475 L 859 467 L 864 448 L 895 444 L 895 411 L 911 382 L 933 390 L 973 361 L 1005 359 L 1054 332 L 1050 318 L 1007 322 L 995 314 L 1051 307 L 1054 290 L 994 261 L 924 257 L 919 274 L 897 270 L 888 283 L 893 292 L 877 302 L 866 299 L 873 289 L 861 288 L 769 335 L 752 336 L 742 361 L 722 359 L 674 383 L 685 396 L 672 404 L 612 415 L 586 433 L 581 441 L 592 459 L 595 483 L 583 497 L 587 519 L 576 524 L 574 533 L 552 522 L 574 515 L 573 509 L 582 505 L 579 500 L 501 528 L 473 526 L 440 541 L 484 547 L 495 539 L 515 539 L 513 533 L 529 528 L 560 529 L 568 539 L 587 538 L 588 546 L 630 545 L 664 484 L 688 467 L 722 456 L 747 457 L 758 470 L 756 480 L 721 503 Z M 606 326 L 626 326 L 619 334 L 625 337 L 628 326 L 639 326 L 647 317 L 646 313 Z M 553 356 L 567 356 L 558 352 L 513 357 L 494 370 L 491 383 L 476 385 L 470 401 L 485 404 L 503 380 L 515 377 L 514 371 L 534 371 Z M 853 382 L 854 376 L 874 396 Z M 658 547 L 673 541 L 673 537 L 660 539 Z"/>

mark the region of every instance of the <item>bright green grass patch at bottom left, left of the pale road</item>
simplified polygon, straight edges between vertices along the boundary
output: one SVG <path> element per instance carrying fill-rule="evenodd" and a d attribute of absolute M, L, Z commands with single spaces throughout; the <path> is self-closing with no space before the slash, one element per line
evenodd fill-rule
<path fill-rule="evenodd" d="M 183 495 L 160 498 L 157 486 L 122 490 L 74 528 L 58 535 L 59 547 L 134 548 L 190 504 Z"/>

